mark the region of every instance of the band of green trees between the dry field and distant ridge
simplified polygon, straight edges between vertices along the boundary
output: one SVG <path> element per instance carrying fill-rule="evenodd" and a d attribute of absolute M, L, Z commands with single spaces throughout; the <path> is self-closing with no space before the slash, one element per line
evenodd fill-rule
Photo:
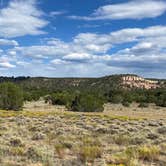
<path fill-rule="evenodd" d="M 148 103 L 166 107 L 166 89 L 131 89 L 122 88 L 66 88 L 50 90 L 47 88 L 23 88 L 15 83 L 0 84 L 0 109 L 21 110 L 25 101 L 37 101 L 43 97 L 53 105 L 65 105 L 69 111 L 100 112 L 104 103 L 121 103 L 130 106 L 132 102 L 140 107 Z"/>

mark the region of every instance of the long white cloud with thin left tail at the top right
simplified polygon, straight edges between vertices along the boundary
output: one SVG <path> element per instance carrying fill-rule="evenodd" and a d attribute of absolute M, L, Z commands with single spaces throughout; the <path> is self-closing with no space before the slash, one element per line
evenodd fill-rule
<path fill-rule="evenodd" d="M 70 16 L 81 20 L 113 20 L 154 18 L 166 11 L 163 0 L 133 0 L 99 7 L 90 16 Z"/>

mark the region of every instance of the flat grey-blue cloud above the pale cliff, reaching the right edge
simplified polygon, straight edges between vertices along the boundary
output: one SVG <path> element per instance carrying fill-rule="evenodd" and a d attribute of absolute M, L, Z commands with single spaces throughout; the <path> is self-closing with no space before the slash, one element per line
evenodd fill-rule
<path fill-rule="evenodd" d="M 116 55 L 113 56 L 110 61 L 106 63 L 112 67 L 119 67 L 128 69 L 128 71 L 134 70 L 137 73 L 140 71 L 151 72 L 164 72 L 166 67 L 166 54 L 148 56 L 147 54 L 141 56 L 135 56 L 131 54 Z"/>

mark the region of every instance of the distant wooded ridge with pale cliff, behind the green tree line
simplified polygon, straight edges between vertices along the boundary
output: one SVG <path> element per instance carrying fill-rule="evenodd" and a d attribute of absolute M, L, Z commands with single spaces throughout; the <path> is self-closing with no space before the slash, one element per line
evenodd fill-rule
<path fill-rule="evenodd" d="M 15 82 L 24 89 L 64 90 L 89 89 L 156 89 L 166 85 L 165 80 L 146 79 L 137 75 L 121 74 L 100 78 L 47 78 L 47 77 L 0 77 L 0 82 Z"/>

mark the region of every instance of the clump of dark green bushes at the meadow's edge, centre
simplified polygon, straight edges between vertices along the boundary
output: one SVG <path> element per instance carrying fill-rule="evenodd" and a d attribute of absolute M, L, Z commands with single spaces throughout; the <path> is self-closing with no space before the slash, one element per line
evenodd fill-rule
<path fill-rule="evenodd" d="M 65 105 L 68 110 L 75 112 L 102 112 L 104 99 L 89 92 L 58 92 L 45 97 L 45 102 L 53 105 Z"/>

